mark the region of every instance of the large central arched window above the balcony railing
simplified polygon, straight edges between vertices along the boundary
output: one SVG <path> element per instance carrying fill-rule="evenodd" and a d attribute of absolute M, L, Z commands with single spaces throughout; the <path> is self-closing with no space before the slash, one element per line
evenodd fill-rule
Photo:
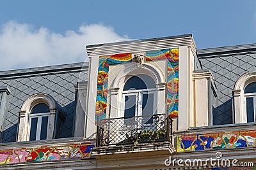
<path fill-rule="evenodd" d="M 124 117 L 145 116 L 144 123 L 152 123 L 156 112 L 156 82 L 147 74 L 131 76 L 123 89 Z"/>

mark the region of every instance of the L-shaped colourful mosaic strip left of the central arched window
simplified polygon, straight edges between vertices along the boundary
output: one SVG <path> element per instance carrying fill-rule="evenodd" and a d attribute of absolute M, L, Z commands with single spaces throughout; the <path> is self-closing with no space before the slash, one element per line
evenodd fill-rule
<path fill-rule="evenodd" d="M 132 61 L 132 53 L 120 53 L 99 57 L 95 124 L 106 118 L 109 66 Z"/>

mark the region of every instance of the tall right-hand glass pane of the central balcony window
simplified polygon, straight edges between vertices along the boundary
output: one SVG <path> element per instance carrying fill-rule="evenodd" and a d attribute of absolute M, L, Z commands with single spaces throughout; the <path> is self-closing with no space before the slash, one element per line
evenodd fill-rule
<path fill-rule="evenodd" d="M 148 116 L 154 114 L 154 94 L 143 94 L 142 97 L 142 115 Z M 152 124 L 153 117 L 143 117 L 143 124 Z"/>

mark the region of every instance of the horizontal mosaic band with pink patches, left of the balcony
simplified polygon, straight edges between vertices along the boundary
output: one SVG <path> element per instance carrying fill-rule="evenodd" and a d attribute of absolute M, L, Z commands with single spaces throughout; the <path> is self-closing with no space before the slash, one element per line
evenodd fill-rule
<path fill-rule="evenodd" d="M 0 164 L 92 158 L 94 143 L 0 150 Z"/>

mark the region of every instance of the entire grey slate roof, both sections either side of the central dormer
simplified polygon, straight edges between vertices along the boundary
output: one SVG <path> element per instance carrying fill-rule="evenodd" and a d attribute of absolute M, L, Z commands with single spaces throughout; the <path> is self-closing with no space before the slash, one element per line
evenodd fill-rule
<path fill-rule="evenodd" d="M 195 69 L 209 69 L 216 83 L 218 101 L 216 108 L 213 108 L 214 125 L 232 124 L 232 90 L 240 76 L 256 71 L 256 44 L 197 50 L 197 57 L 199 60 L 195 60 Z M 63 107 L 67 118 L 61 129 L 60 138 L 73 137 L 76 112 L 74 85 L 78 81 L 88 80 L 88 62 L 84 67 L 83 64 L 1 71 L 0 87 L 7 85 L 11 92 L 1 129 L 1 141 L 16 141 L 19 110 L 24 101 L 36 93 L 51 95 Z M 0 103 L 1 97 L 0 93 Z"/>

